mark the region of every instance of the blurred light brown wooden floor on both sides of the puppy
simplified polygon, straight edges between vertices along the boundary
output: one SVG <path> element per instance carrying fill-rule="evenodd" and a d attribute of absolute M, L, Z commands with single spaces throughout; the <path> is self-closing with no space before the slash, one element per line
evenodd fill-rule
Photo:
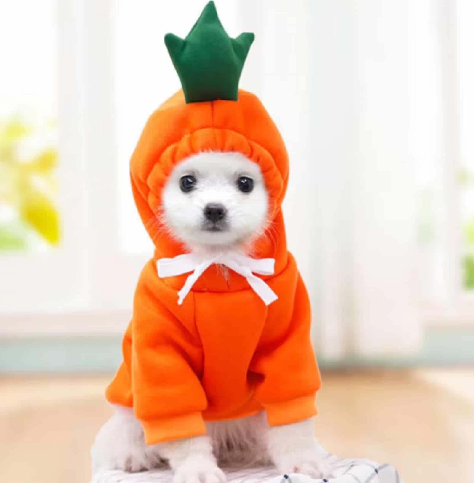
<path fill-rule="evenodd" d="M 109 377 L 0 379 L 0 482 L 87 483 Z M 474 369 L 323 374 L 331 452 L 389 462 L 406 483 L 474 481 Z"/>

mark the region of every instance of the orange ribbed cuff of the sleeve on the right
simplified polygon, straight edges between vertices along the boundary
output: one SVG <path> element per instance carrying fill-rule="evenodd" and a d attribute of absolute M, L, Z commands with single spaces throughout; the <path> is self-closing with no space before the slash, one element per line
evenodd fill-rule
<path fill-rule="evenodd" d="M 270 426 L 298 423 L 316 416 L 316 394 L 292 399 L 291 401 L 264 404 Z"/>

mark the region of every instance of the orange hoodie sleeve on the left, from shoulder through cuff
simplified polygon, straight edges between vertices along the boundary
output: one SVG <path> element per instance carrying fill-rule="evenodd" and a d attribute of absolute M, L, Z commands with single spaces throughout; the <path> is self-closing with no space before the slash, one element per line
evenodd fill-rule
<path fill-rule="evenodd" d="M 183 304 L 183 323 L 164 305 L 166 286 L 145 267 L 137 286 L 132 319 L 131 386 L 133 409 L 144 428 L 147 444 L 204 434 L 201 412 L 207 400 L 198 374 L 202 347 L 186 320 L 193 300 Z M 153 286 L 150 286 L 153 285 Z M 161 290 L 160 300 L 154 295 Z M 161 297 L 162 296 L 162 297 Z M 171 294 L 176 305 L 175 293 Z M 189 315 L 189 317 L 188 317 Z M 180 314 L 181 319 L 181 314 Z"/>

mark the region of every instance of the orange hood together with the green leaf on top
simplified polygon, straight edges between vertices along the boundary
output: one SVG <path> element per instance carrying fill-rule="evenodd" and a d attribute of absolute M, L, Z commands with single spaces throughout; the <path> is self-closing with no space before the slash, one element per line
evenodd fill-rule
<path fill-rule="evenodd" d="M 156 259 L 186 253 L 158 217 L 162 190 L 174 166 L 202 151 L 235 151 L 259 165 L 269 193 L 270 227 L 254 242 L 252 256 L 275 258 L 275 274 L 286 266 L 281 203 L 288 180 L 287 150 L 258 97 L 235 87 L 253 39 L 251 33 L 231 39 L 213 2 L 185 40 L 165 36 L 183 89 L 150 116 L 130 163 L 133 195 Z M 220 79 L 219 89 L 215 78 Z"/>

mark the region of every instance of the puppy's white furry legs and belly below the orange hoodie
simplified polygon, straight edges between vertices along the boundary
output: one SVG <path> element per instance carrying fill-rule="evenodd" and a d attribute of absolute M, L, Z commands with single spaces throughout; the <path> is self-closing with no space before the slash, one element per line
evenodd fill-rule
<path fill-rule="evenodd" d="M 246 418 L 209 422 L 206 428 L 204 436 L 148 446 L 133 411 L 116 406 L 92 446 L 93 471 L 140 471 L 167 463 L 174 469 L 174 483 L 223 483 L 226 478 L 218 463 L 273 463 L 281 473 L 330 476 L 317 452 L 313 418 L 271 427 L 262 411 Z"/>

